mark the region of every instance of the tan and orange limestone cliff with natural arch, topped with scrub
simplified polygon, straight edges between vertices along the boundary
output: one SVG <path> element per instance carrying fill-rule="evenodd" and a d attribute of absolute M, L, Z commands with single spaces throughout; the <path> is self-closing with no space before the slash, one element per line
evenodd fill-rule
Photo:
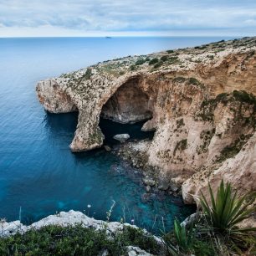
<path fill-rule="evenodd" d="M 79 111 L 72 151 L 102 146 L 100 115 L 122 123 L 147 120 L 142 130 L 156 133 L 146 165 L 160 180 L 185 182 L 186 202 L 222 177 L 252 191 L 255 51 L 256 38 L 243 38 L 115 59 L 39 82 L 38 99 L 50 112 Z"/>

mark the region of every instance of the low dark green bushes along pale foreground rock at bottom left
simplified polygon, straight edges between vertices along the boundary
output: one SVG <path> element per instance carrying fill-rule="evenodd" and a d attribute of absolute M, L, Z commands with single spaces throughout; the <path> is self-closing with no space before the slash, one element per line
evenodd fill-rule
<path fill-rule="evenodd" d="M 125 255 L 126 246 L 138 246 L 149 253 L 160 251 L 156 240 L 141 229 L 125 227 L 109 238 L 105 229 L 47 226 L 0 239 L 0 255 Z"/>

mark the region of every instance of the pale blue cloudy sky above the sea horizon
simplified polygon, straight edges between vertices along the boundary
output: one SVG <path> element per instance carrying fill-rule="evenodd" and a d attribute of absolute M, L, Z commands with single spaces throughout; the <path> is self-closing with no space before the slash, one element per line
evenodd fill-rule
<path fill-rule="evenodd" d="M 202 35 L 256 35 L 256 0 L 0 0 L 0 37 Z"/>

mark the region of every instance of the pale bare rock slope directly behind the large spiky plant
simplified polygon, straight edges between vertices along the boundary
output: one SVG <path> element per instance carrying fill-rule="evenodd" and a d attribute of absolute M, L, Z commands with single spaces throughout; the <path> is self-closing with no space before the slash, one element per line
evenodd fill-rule
<path fill-rule="evenodd" d="M 217 191 L 221 180 L 231 182 L 238 190 L 238 195 L 256 191 L 256 134 L 243 146 L 233 158 L 223 162 L 221 166 L 211 170 L 211 166 L 197 172 L 182 184 L 182 194 L 185 202 L 194 202 L 203 192 L 209 199 L 208 182 L 212 190 Z"/>

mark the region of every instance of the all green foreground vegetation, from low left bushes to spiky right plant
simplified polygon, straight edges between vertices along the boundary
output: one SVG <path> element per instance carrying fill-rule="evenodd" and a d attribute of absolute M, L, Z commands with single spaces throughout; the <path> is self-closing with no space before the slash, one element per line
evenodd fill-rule
<path fill-rule="evenodd" d="M 163 234 L 162 244 L 131 226 L 110 233 L 106 228 L 95 230 L 79 224 L 51 225 L 0 238 L 0 255 L 103 255 L 106 251 L 108 255 L 126 255 L 127 246 L 154 255 L 255 255 L 256 229 L 237 226 L 255 211 L 250 207 L 255 194 L 238 198 L 231 184 L 222 181 L 215 197 L 209 186 L 209 196 L 210 202 L 204 194 L 200 197 L 202 212 L 196 213 L 197 218 L 187 223 L 174 221 L 173 231 Z"/>

